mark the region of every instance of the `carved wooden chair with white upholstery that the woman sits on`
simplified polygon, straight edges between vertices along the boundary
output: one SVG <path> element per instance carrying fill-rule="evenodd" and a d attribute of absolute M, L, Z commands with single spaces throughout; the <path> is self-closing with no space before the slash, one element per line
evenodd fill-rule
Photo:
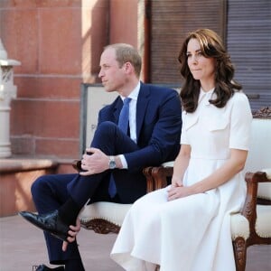
<path fill-rule="evenodd" d="M 271 244 L 271 108 L 261 109 L 252 123 L 252 145 L 245 168 L 247 196 L 243 209 L 231 215 L 231 238 L 237 271 L 245 271 L 247 248 Z M 154 189 L 168 185 L 173 163 L 152 168 Z"/>

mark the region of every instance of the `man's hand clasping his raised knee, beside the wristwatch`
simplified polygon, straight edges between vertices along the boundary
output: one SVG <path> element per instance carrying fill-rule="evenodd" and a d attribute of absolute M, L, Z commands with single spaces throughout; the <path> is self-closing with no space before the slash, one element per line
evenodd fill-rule
<path fill-rule="evenodd" d="M 79 173 L 82 176 L 88 176 L 97 173 L 103 173 L 108 169 L 108 156 L 97 148 L 86 149 L 87 153 L 84 154 L 81 160 L 81 168 L 84 172 Z"/>

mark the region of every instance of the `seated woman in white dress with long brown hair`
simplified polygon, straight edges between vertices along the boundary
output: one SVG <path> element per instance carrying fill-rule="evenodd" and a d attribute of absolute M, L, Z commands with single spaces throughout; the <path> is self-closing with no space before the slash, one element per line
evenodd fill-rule
<path fill-rule="evenodd" d="M 172 184 L 135 201 L 111 257 L 129 271 L 233 271 L 229 215 L 246 194 L 248 98 L 217 33 L 189 33 L 179 61 L 182 147 Z"/>

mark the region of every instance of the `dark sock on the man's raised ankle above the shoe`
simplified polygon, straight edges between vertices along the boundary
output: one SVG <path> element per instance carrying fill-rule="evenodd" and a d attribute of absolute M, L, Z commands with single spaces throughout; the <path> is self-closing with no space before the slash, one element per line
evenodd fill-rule
<path fill-rule="evenodd" d="M 80 207 L 78 204 L 72 200 L 70 197 L 61 208 L 59 209 L 59 215 L 61 220 L 63 220 L 68 225 L 76 225 L 76 219 L 79 215 Z"/>

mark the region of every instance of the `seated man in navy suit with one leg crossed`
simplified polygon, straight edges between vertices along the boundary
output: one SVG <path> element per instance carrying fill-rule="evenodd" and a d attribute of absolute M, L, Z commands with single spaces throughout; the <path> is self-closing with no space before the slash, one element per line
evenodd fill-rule
<path fill-rule="evenodd" d="M 44 230 L 50 263 L 65 270 L 84 270 L 76 241 L 62 251 L 87 201 L 133 203 L 146 192 L 145 166 L 174 160 L 180 149 L 181 101 L 173 89 L 146 85 L 139 80 L 141 57 L 131 45 L 108 45 L 100 57 L 98 77 L 116 100 L 103 107 L 93 141 L 80 161 L 79 174 L 45 175 L 32 186 L 38 215 L 23 211 L 24 219 Z M 129 126 L 118 118 L 129 98 Z M 113 185 L 113 189 L 112 189 Z M 110 187 L 110 188 L 109 188 Z M 113 193 L 111 192 L 113 191 Z M 69 233 L 68 233 L 69 231 Z M 38 270 L 64 270 L 39 266 Z"/>

